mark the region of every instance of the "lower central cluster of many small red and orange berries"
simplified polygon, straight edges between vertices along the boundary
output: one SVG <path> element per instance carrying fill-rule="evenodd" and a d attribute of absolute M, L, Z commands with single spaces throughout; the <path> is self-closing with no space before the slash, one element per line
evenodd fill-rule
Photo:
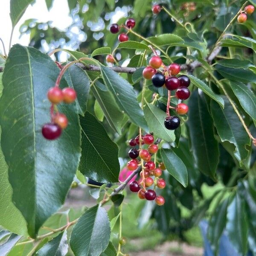
<path fill-rule="evenodd" d="M 137 149 L 136 145 L 148 145 L 147 149 Z M 140 136 L 137 136 L 135 139 L 129 141 L 131 148 L 128 155 L 131 160 L 127 163 L 127 169 L 130 171 L 135 171 L 139 166 L 139 160 L 137 157 L 140 157 L 142 164 L 142 171 L 140 172 L 140 180 L 130 183 L 130 190 L 132 192 L 137 192 L 140 199 L 154 200 L 157 205 L 163 205 L 165 200 L 163 196 L 156 194 L 155 189 L 163 189 L 166 186 L 166 182 L 163 178 L 160 178 L 162 175 L 162 169 L 156 168 L 155 163 L 151 161 L 151 157 L 158 150 L 157 144 L 154 144 L 154 136 L 152 134 L 145 134 L 142 136 L 140 141 Z M 163 165 L 162 165 L 163 167 Z M 165 167 L 164 167 L 165 168 Z M 154 179 L 151 177 L 154 176 Z M 153 189 L 146 189 L 154 185 Z"/>

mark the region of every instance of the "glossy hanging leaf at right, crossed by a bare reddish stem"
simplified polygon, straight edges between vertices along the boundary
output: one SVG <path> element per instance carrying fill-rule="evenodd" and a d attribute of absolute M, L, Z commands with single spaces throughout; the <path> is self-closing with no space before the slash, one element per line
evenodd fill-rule
<path fill-rule="evenodd" d="M 223 99 L 225 102 L 224 109 L 220 108 L 216 102 L 211 101 L 210 105 L 214 125 L 222 142 L 229 141 L 236 146 L 234 155 L 239 163 L 242 164 L 243 160 L 249 154 L 246 145 L 250 145 L 250 138 L 229 100 L 226 97 L 223 97 Z"/>

